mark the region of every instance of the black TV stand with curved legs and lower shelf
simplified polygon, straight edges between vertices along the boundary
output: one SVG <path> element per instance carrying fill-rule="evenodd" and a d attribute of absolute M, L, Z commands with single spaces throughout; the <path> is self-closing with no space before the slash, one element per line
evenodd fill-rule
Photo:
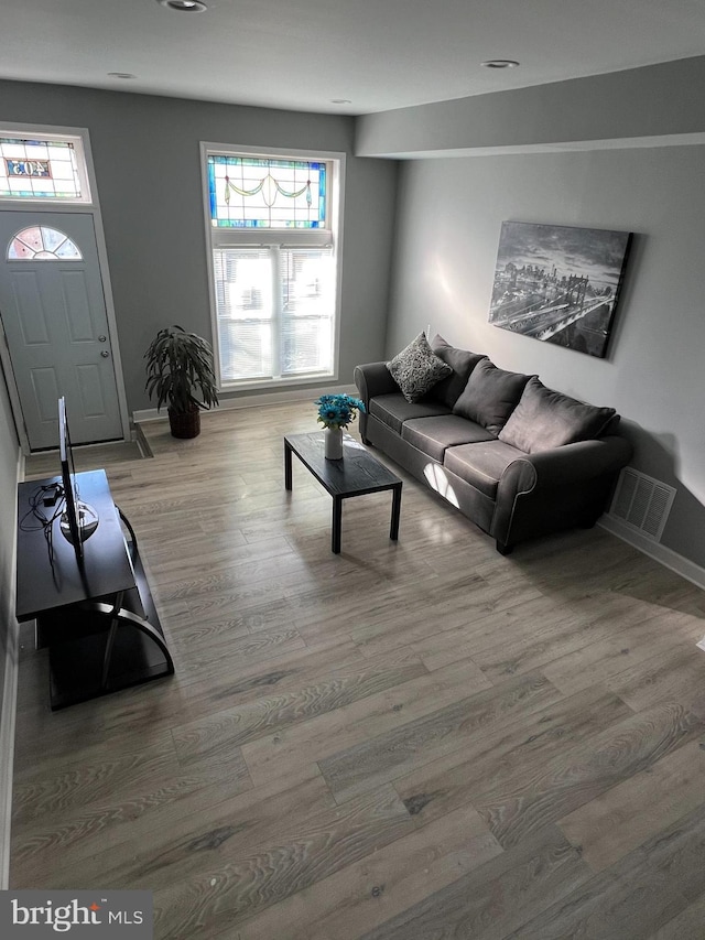
<path fill-rule="evenodd" d="M 36 620 L 37 647 L 48 647 L 52 710 L 174 672 L 134 532 L 105 471 L 78 473 L 76 482 L 99 518 L 80 562 L 58 518 L 50 540 L 31 515 L 31 500 L 61 477 L 22 483 L 18 491 L 15 613 L 21 623 Z M 54 511 L 41 499 L 37 508 L 47 518 Z"/>

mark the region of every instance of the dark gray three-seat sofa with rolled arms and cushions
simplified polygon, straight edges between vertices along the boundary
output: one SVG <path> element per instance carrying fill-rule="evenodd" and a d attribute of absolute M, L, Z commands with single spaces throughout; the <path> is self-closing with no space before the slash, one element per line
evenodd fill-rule
<path fill-rule="evenodd" d="M 426 389 L 412 372 L 429 356 L 445 369 Z M 502 554 L 525 539 L 593 526 L 631 456 L 614 409 L 497 369 L 440 336 L 429 344 L 421 334 L 390 364 L 357 366 L 355 382 L 366 408 L 362 441 L 459 509 Z"/>

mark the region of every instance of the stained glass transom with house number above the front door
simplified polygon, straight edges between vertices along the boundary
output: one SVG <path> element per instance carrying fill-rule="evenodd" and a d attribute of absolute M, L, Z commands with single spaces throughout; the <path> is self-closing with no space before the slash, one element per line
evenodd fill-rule
<path fill-rule="evenodd" d="M 0 137 L 0 198 L 80 199 L 73 141 Z"/>

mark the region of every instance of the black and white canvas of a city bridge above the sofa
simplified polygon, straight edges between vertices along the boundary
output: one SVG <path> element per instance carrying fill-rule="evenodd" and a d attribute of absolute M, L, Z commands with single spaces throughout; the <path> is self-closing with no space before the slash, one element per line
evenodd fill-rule
<path fill-rule="evenodd" d="M 503 222 L 489 322 L 604 357 L 630 231 Z"/>

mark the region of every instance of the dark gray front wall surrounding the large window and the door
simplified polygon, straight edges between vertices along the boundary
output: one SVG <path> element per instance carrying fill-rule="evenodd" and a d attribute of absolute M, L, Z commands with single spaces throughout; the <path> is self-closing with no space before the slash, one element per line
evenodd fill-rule
<path fill-rule="evenodd" d="M 130 411 L 143 353 L 171 323 L 210 337 L 199 141 L 348 153 L 339 382 L 379 356 L 395 165 L 352 155 L 354 119 L 0 82 L 0 122 L 88 128 Z"/>

